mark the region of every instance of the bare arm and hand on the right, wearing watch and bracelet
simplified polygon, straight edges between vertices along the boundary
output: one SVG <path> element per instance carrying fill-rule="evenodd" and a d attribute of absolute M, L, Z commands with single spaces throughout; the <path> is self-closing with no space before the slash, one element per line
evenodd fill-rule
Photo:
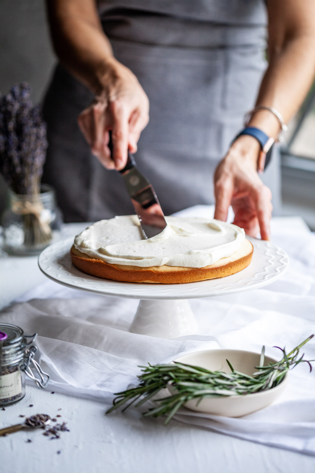
<path fill-rule="evenodd" d="M 276 108 L 287 122 L 298 111 L 315 76 L 315 2 L 268 0 L 269 67 L 256 105 Z M 249 122 L 277 137 L 280 126 L 268 111 L 255 113 Z M 259 144 L 239 137 L 218 166 L 215 176 L 215 218 L 226 220 L 232 204 L 234 222 L 256 236 L 270 239 L 271 192 L 256 172 Z"/>

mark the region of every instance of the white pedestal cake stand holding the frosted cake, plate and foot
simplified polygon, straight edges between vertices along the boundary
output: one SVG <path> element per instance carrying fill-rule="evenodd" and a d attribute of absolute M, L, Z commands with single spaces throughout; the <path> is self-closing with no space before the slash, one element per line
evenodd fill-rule
<path fill-rule="evenodd" d="M 48 246 L 39 255 L 38 265 L 48 278 L 69 288 L 140 299 L 130 331 L 170 339 L 197 331 L 196 319 L 187 299 L 261 288 L 284 274 L 289 264 L 285 251 L 273 243 L 249 239 L 254 245 L 254 254 L 247 268 L 225 278 L 187 284 L 119 282 L 85 274 L 71 262 L 73 238 Z"/>

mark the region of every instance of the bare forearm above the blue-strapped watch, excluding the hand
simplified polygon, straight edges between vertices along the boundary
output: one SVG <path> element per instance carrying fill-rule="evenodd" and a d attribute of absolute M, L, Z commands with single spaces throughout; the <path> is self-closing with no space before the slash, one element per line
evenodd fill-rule
<path fill-rule="evenodd" d="M 280 111 L 284 121 L 298 111 L 315 75 L 315 1 L 268 0 L 269 67 L 257 105 Z M 250 122 L 269 136 L 277 136 L 279 123 L 269 112 L 257 112 Z"/>

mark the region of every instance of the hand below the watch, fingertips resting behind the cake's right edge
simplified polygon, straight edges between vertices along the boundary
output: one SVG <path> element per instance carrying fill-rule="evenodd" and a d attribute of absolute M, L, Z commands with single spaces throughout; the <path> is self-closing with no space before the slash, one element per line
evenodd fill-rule
<path fill-rule="evenodd" d="M 243 135 L 234 141 L 214 174 L 214 218 L 226 221 L 232 205 L 234 224 L 251 236 L 270 240 L 271 190 L 257 173 L 260 146 L 255 138 Z"/>

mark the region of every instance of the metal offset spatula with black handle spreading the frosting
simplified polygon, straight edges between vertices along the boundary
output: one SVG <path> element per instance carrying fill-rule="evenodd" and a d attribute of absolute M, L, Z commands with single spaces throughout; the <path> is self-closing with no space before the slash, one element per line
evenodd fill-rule
<path fill-rule="evenodd" d="M 111 131 L 108 147 L 112 153 Z M 119 171 L 139 217 L 144 239 L 159 235 L 167 226 L 163 210 L 152 184 L 136 168 L 135 158 L 128 152 L 126 166 Z"/>

